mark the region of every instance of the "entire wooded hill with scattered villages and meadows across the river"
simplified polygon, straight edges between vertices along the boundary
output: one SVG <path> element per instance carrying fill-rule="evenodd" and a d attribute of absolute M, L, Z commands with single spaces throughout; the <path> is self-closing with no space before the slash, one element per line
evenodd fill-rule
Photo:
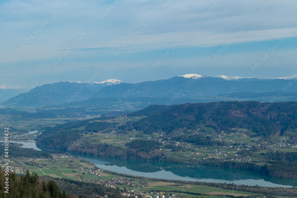
<path fill-rule="evenodd" d="M 207 132 L 206 128 L 211 128 L 212 132 Z M 237 157 L 252 156 L 253 161 L 247 159 L 246 163 L 236 162 L 233 167 L 253 170 L 271 177 L 292 178 L 292 170 L 296 172 L 292 169 L 296 166 L 295 155 L 288 157 L 285 153 L 276 158 L 273 157 L 274 154 L 266 156 L 266 153 L 268 146 L 279 143 L 272 136 L 284 135 L 284 142 L 295 144 L 296 129 L 297 102 L 188 103 L 168 108 L 154 105 L 125 116 L 93 118 L 47 127 L 37 137 L 36 145 L 91 156 L 148 161 L 165 159 L 167 162 L 211 163 L 210 165 L 220 166 L 231 166 L 235 163 L 231 161 L 234 158 L 231 153 L 236 147 Z M 221 134 L 228 134 L 229 137 L 223 139 Z M 245 150 L 246 142 L 232 140 L 235 137 L 243 137 L 244 141 L 249 139 L 247 143 L 253 143 L 252 149 Z M 211 151 L 223 149 L 228 156 L 221 154 L 220 157 L 224 157 L 224 160 L 215 163 L 211 160 L 205 161 L 203 158 L 208 157 L 210 152 L 203 150 L 207 154 L 198 156 L 196 149 L 201 147 L 211 147 Z M 295 152 L 296 147 L 288 145 L 287 148 Z M 259 151 L 263 153 L 257 153 Z M 271 150 L 269 153 L 275 151 Z M 189 156 L 191 154 L 192 156 Z M 253 164 L 260 162 L 263 156 L 266 157 L 267 166 Z M 230 161 L 227 163 L 225 160 L 230 160 L 231 165 Z M 273 164 L 274 160 L 277 160 L 277 164 Z M 261 168 L 255 170 L 255 167 Z M 280 172 L 280 169 L 285 172 Z"/>

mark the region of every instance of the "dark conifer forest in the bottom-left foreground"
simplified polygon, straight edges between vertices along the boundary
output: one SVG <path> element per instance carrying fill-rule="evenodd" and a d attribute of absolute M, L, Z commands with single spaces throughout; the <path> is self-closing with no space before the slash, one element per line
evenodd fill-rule
<path fill-rule="evenodd" d="M 9 190 L 5 189 L 6 178 L 9 178 Z M 46 177 L 39 178 L 36 173 L 27 170 L 25 175 L 7 173 L 0 168 L 0 197 L 1 198 L 85 198 L 108 194 L 110 198 L 120 198 L 119 188 L 110 188 L 94 183 L 79 182 L 68 179 L 51 180 Z M 8 193 L 7 193 L 8 192 Z"/>

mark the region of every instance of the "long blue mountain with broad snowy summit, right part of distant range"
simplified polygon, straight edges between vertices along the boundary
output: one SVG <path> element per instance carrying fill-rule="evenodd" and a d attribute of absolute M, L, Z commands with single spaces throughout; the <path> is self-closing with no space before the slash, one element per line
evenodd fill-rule
<path fill-rule="evenodd" d="M 292 81 L 292 82 L 291 82 Z M 206 77 L 187 74 L 167 80 L 119 84 L 102 88 L 92 98 L 177 97 L 200 98 L 237 92 L 297 92 L 297 75 L 285 78 Z"/>

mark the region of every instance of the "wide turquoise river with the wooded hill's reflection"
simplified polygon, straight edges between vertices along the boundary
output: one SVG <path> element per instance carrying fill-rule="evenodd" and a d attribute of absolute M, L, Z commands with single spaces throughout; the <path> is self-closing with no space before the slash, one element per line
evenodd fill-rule
<path fill-rule="evenodd" d="M 35 142 L 32 143 L 35 144 Z M 46 148 L 41 149 L 49 150 Z M 297 182 L 293 179 L 271 178 L 260 175 L 256 172 L 227 167 L 136 161 L 108 157 L 84 156 L 77 153 L 72 153 L 72 155 L 87 159 L 99 168 L 128 175 L 185 181 L 234 183 L 249 186 L 258 185 L 264 187 L 297 186 Z"/>

